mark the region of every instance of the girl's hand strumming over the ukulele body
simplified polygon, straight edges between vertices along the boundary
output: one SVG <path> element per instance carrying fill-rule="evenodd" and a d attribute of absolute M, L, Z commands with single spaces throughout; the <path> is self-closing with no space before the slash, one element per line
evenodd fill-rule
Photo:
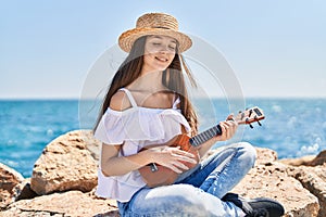
<path fill-rule="evenodd" d="M 180 150 L 179 146 L 163 146 L 149 149 L 148 151 L 152 163 L 165 166 L 177 174 L 181 174 L 184 170 L 189 169 L 183 162 L 197 164 L 196 156 Z"/>

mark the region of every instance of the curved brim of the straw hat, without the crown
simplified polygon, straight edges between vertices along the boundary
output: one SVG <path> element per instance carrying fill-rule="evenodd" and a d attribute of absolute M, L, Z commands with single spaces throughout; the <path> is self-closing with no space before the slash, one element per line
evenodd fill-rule
<path fill-rule="evenodd" d="M 149 35 L 168 36 L 175 38 L 179 43 L 180 53 L 188 50 L 192 44 L 191 39 L 180 31 L 164 28 L 134 28 L 123 33 L 118 37 L 118 46 L 123 51 L 128 53 L 130 52 L 134 42 L 138 38 Z"/>

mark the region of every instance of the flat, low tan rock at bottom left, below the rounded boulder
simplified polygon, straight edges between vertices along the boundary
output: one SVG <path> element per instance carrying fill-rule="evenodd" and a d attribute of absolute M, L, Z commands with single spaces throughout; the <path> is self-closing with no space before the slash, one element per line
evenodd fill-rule
<path fill-rule="evenodd" d="M 97 199 L 92 193 L 68 191 L 18 201 L 0 213 L 0 216 L 113 217 L 118 216 L 118 212 L 115 201 Z"/>

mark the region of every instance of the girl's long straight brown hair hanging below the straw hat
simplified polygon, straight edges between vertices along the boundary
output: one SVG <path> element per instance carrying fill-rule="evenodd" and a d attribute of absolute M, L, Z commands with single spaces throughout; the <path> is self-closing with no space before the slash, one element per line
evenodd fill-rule
<path fill-rule="evenodd" d="M 122 63 L 116 74 L 114 75 L 110 84 L 109 90 L 105 94 L 104 101 L 102 103 L 95 130 L 98 127 L 102 115 L 110 106 L 111 98 L 113 97 L 113 94 L 115 94 L 118 89 L 130 85 L 140 76 L 141 67 L 143 64 L 146 38 L 147 36 L 143 36 L 135 41 L 128 56 Z M 162 84 L 179 97 L 181 114 L 186 117 L 187 122 L 189 123 L 191 127 L 191 133 L 196 135 L 198 131 L 198 117 L 188 98 L 185 78 L 181 73 L 181 65 L 184 66 L 191 85 L 196 86 L 196 81 L 192 78 L 189 68 L 187 67 L 183 55 L 178 54 L 177 50 L 172 63 L 163 72 Z"/>

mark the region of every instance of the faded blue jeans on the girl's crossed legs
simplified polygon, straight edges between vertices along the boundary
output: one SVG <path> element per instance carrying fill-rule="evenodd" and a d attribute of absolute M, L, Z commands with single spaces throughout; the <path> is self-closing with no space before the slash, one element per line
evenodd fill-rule
<path fill-rule="evenodd" d="M 221 199 L 253 167 L 255 150 L 247 142 L 223 151 L 183 174 L 171 186 L 143 188 L 127 203 L 117 203 L 121 216 L 239 216 L 242 210 Z"/>

